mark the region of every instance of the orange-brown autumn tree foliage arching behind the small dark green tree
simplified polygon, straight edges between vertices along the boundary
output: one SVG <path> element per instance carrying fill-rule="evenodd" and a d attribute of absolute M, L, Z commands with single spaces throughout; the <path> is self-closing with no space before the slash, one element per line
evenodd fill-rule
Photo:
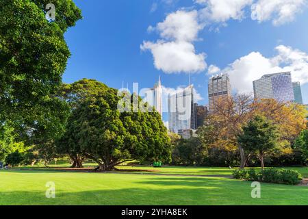
<path fill-rule="evenodd" d="M 281 133 L 279 141 L 293 143 L 300 131 L 306 127 L 305 107 L 295 103 L 283 103 L 274 99 L 257 100 L 246 94 L 236 94 L 216 99 L 212 107 L 205 126 L 198 131 L 198 136 L 201 139 L 211 138 L 210 146 L 226 151 L 238 150 L 241 157 L 240 168 L 244 168 L 251 153 L 244 151 L 238 144 L 237 136 L 242 133 L 242 127 L 256 115 L 265 116 L 277 125 Z"/>

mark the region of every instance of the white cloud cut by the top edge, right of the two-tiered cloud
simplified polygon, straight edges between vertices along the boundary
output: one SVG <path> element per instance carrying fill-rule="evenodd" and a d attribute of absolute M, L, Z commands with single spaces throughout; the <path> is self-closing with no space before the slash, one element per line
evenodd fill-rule
<path fill-rule="evenodd" d="M 195 0 L 195 2 L 205 5 L 199 12 L 205 23 L 224 23 L 229 19 L 242 20 L 244 9 L 251 5 L 253 0 Z"/>

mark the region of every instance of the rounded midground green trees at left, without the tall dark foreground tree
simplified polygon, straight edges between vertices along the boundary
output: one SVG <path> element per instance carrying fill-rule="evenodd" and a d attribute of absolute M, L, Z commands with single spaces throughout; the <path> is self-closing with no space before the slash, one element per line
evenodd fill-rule
<path fill-rule="evenodd" d="M 62 84 L 55 94 L 68 109 L 58 109 L 66 118 L 64 122 L 57 121 L 62 131 L 57 133 L 58 129 L 47 127 L 53 136 L 43 132 L 40 138 L 36 137 L 38 143 L 27 150 L 23 147 L 20 151 L 13 146 L 14 151 L 5 153 L 5 161 L 34 164 L 43 160 L 47 165 L 55 158 L 68 156 L 74 168 L 81 168 L 84 159 L 91 159 L 101 170 L 112 170 L 135 159 L 170 162 L 170 138 L 159 113 L 120 113 L 118 103 L 123 95 L 126 94 L 118 95 L 118 90 L 91 79 Z M 133 95 L 131 103 L 136 99 Z"/>

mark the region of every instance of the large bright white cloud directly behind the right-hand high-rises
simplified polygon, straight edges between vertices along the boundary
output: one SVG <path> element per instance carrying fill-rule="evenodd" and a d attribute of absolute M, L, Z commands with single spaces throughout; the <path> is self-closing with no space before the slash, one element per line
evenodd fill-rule
<path fill-rule="evenodd" d="M 268 73 L 292 72 L 292 79 L 308 83 L 308 55 L 292 47 L 276 47 L 277 55 L 264 57 L 252 52 L 229 64 L 222 73 L 228 73 L 232 88 L 238 92 L 253 92 L 253 81 Z"/>

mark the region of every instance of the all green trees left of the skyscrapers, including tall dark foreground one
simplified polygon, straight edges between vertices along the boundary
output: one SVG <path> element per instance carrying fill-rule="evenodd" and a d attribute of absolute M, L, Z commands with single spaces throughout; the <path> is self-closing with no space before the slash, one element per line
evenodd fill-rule
<path fill-rule="evenodd" d="M 72 0 L 55 0 L 51 21 L 48 3 L 0 0 L 0 159 L 48 164 L 69 156 L 80 167 L 90 158 L 104 170 L 130 159 L 170 161 L 157 112 L 120 114 L 121 96 L 98 81 L 62 84 L 70 57 L 64 33 L 81 11 Z"/>

